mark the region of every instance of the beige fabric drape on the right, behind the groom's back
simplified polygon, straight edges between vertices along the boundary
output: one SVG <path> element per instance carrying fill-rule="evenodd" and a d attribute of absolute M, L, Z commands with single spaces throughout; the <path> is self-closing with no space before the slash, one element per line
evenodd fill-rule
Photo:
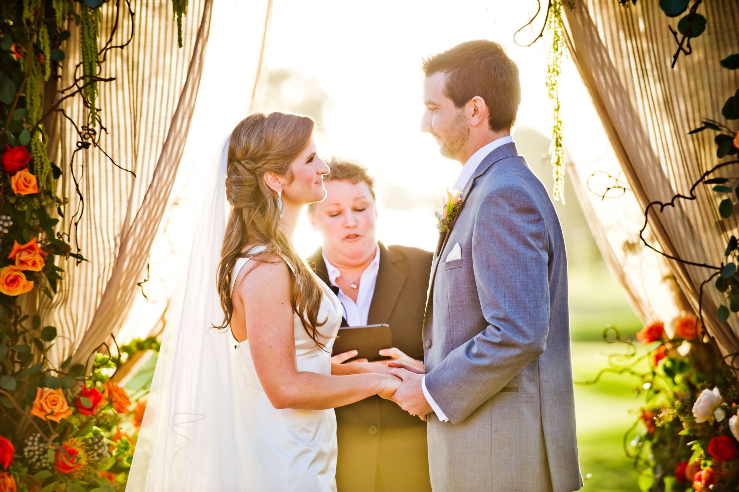
<path fill-rule="evenodd" d="M 692 40 L 693 54 L 680 55 L 674 69 L 670 63 L 677 45 L 667 24 L 676 27 L 678 19 L 667 18 L 657 2 L 624 8 L 618 1 L 582 0 L 563 11 L 569 53 L 610 141 L 608 152 L 589 157 L 582 138 L 568 140 L 571 177 L 596 240 L 643 320 L 670 321 L 686 300 L 697 312 L 701 283 L 715 271 L 665 260 L 639 243 L 638 231 L 648 203 L 689 195 L 692 183 L 718 164 L 715 133 L 687 133 L 701 126 L 701 118 L 721 121 L 723 102 L 739 87 L 739 72 L 718 64 L 739 51 L 735 1 L 700 5 L 706 32 Z M 562 102 L 571 113 L 565 114 L 566 129 L 568 119 L 579 117 L 573 114 L 578 102 L 575 97 Z M 622 172 L 628 188 L 623 197 L 602 200 L 588 191 L 588 184 L 599 194 L 614 184 L 605 175 L 590 178 L 596 171 L 613 177 Z M 736 171 L 729 167 L 712 176 Z M 612 190 L 610 196 L 618 193 Z M 653 209 L 645 237 L 669 255 L 718 265 L 729 236 L 737 234 L 737 220 L 718 215 L 718 202 L 726 195 L 705 185 L 696 194 L 698 200 L 677 200 L 663 213 Z M 723 354 L 738 351 L 739 320 L 732 314 L 728 323 L 718 322 L 719 297 L 712 283 L 704 288 L 703 303 L 706 326 Z"/>

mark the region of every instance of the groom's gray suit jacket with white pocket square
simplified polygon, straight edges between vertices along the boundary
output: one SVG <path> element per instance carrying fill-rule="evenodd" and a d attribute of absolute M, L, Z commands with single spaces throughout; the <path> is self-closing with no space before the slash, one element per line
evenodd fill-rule
<path fill-rule="evenodd" d="M 423 320 L 434 491 L 582 488 L 559 219 L 515 144 L 494 149 L 434 257 Z M 455 244 L 462 257 L 447 261 Z"/>

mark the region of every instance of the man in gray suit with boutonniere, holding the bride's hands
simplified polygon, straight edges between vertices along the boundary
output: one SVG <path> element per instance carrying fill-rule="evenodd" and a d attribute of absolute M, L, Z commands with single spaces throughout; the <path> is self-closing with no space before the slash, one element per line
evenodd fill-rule
<path fill-rule="evenodd" d="M 582 487 L 562 229 L 511 138 L 518 68 L 492 41 L 423 63 L 421 129 L 463 164 L 423 320 L 426 371 L 397 367 L 394 400 L 428 419 L 434 491 Z"/>

